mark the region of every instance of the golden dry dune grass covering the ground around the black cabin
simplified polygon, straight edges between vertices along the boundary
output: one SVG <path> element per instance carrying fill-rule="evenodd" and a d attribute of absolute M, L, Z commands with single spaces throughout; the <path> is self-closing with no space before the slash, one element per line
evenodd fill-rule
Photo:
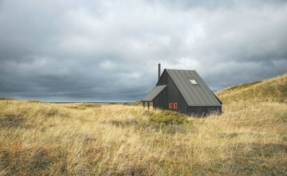
<path fill-rule="evenodd" d="M 223 90 L 223 114 L 204 119 L 2 99 L 0 175 L 287 175 L 284 83 L 286 75 Z"/>

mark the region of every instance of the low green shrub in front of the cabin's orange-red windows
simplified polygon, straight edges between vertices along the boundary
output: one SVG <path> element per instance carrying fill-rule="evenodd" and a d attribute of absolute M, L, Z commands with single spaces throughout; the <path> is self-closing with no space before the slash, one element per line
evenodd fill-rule
<path fill-rule="evenodd" d="M 179 125 L 187 124 L 187 117 L 172 110 L 161 110 L 160 112 L 148 112 L 149 120 L 159 124 Z"/>

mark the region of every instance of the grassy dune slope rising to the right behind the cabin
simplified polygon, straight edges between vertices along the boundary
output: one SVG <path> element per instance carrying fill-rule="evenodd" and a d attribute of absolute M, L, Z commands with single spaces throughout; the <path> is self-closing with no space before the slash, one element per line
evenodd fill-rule
<path fill-rule="evenodd" d="M 272 79 L 225 88 L 216 92 L 216 95 L 223 103 L 234 101 L 270 101 L 287 103 L 287 74 Z"/>

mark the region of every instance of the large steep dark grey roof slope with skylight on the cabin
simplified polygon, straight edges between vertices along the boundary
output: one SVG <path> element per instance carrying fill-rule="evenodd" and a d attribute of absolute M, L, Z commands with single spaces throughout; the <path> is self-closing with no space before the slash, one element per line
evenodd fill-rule
<path fill-rule="evenodd" d="M 221 101 L 208 88 L 195 70 L 165 69 L 188 106 L 221 106 Z M 197 84 L 192 84 L 194 79 Z"/>

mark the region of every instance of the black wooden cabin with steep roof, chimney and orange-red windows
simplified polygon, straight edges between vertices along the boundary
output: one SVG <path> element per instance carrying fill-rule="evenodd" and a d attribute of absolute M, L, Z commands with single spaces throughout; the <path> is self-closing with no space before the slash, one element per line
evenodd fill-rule
<path fill-rule="evenodd" d="M 142 99 L 143 106 L 152 102 L 154 108 L 175 110 L 186 115 L 205 116 L 210 113 L 221 114 L 222 102 L 196 70 L 165 69 L 160 75 L 158 64 L 158 83 Z"/>

